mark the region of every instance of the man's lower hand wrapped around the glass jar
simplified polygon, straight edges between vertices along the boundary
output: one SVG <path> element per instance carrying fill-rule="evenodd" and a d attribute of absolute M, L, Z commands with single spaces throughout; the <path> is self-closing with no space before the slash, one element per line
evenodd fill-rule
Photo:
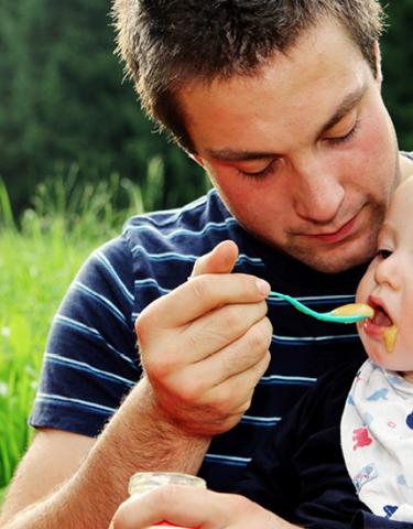
<path fill-rule="evenodd" d="M 124 501 L 110 529 L 143 529 L 161 520 L 196 529 L 296 527 L 243 496 L 166 485 Z"/>

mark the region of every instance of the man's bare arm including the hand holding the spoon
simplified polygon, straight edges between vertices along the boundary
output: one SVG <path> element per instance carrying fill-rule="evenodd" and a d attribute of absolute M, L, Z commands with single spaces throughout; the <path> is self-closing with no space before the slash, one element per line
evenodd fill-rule
<path fill-rule="evenodd" d="M 74 475 L 67 479 L 57 469 L 55 479 L 44 482 L 35 505 L 30 488 L 44 481 L 48 464 L 46 451 L 33 445 L 19 471 L 26 477 L 15 481 L 6 503 L 1 521 L 8 529 L 107 527 L 133 473 L 196 473 L 209 436 L 238 422 L 268 366 L 272 330 L 265 288 L 257 278 L 226 273 L 237 258 L 233 246 L 224 244 L 202 258 L 194 273 L 200 277 L 142 313 L 138 335 L 148 377 L 90 452 L 90 445 L 79 449 L 87 455 L 80 466 L 81 457 L 73 458 L 52 443 L 51 452 L 68 458 Z M 58 457 L 54 462 L 62 464 Z"/>

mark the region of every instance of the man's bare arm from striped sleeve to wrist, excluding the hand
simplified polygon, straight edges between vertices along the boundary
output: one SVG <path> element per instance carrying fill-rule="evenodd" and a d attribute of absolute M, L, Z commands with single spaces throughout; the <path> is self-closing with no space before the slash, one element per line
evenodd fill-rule
<path fill-rule="evenodd" d="M 81 436 L 41 433 L 10 488 L 0 527 L 100 529 L 128 497 L 138 469 L 196 473 L 208 438 L 185 436 L 152 414 L 145 385 L 133 389 L 93 446 Z"/>

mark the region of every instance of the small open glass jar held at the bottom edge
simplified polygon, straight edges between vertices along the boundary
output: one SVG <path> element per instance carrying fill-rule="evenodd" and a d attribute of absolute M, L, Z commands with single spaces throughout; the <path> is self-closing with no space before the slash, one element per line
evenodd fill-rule
<path fill-rule="evenodd" d="M 134 494 L 143 494 L 148 490 L 152 490 L 161 485 L 186 485 L 196 488 L 206 488 L 205 479 L 192 476 L 191 474 L 182 474 L 178 472 L 138 472 L 129 479 L 128 492 L 132 496 Z M 154 529 L 156 527 L 180 527 L 181 529 L 194 529 L 184 528 L 183 526 L 175 526 L 167 521 L 160 521 L 155 526 L 150 526 L 148 529 Z"/>

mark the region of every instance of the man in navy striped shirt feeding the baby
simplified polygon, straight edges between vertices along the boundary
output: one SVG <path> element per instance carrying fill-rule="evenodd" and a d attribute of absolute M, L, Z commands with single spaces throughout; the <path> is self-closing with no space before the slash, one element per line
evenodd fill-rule
<path fill-rule="evenodd" d="M 267 314 L 268 283 L 350 301 L 412 171 L 380 95 L 377 1 L 119 0 L 115 14 L 144 108 L 217 191 L 132 219 L 69 290 L 13 528 L 106 527 L 132 473 L 197 472 L 206 450 L 200 474 L 228 489 L 318 375 L 363 357 L 351 327 Z"/>

